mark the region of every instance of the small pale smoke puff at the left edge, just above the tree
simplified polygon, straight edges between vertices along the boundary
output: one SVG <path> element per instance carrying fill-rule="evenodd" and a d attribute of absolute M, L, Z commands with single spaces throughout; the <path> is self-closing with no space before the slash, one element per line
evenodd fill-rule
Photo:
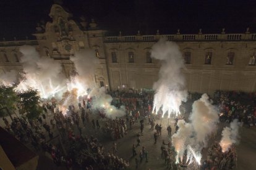
<path fill-rule="evenodd" d="M 0 75 L 0 85 L 12 86 L 12 84 L 16 83 L 17 77 L 18 73 L 16 70 L 11 70 L 5 74 L 2 73 Z"/>

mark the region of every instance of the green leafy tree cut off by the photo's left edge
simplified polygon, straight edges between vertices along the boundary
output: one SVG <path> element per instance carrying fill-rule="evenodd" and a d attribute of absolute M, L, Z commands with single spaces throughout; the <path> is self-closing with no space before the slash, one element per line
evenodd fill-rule
<path fill-rule="evenodd" d="M 14 91 L 14 86 L 0 86 L 0 114 L 1 116 L 7 115 L 10 116 L 12 121 L 11 110 L 15 110 L 15 104 L 18 100 L 17 94 Z M 6 110 L 6 112 L 4 112 Z"/>

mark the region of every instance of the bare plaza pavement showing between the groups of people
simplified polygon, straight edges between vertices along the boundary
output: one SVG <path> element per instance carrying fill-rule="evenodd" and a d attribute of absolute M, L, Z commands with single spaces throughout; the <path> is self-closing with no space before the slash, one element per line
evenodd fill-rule
<path fill-rule="evenodd" d="M 52 118 L 53 115 L 49 115 L 48 117 Z M 91 135 L 97 137 L 101 144 L 105 147 L 105 152 L 112 153 L 112 146 L 113 142 L 116 142 L 117 144 L 117 155 L 119 158 L 123 158 L 124 160 L 129 160 L 130 168 L 135 169 L 135 157 L 132 157 L 132 144 L 137 144 L 137 133 L 140 132 L 140 123 L 135 123 L 135 126 L 132 130 L 129 129 L 129 124 L 127 124 L 127 135 L 124 136 L 122 139 L 117 140 L 111 140 L 106 139 L 106 137 L 103 136 L 103 132 L 101 129 L 93 129 L 92 128 L 92 119 L 99 119 L 101 127 L 103 126 L 104 119 L 101 119 L 97 115 L 90 115 L 90 122 L 85 125 L 85 127 L 82 129 L 82 134 L 87 135 L 90 137 Z M 1 120 L 1 126 L 2 120 Z M 47 123 L 49 124 L 49 119 L 47 119 Z M 142 161 L 142 163 L 139 163 L 138 169 L 166 169 L 166 165 L 164 164 L 164 160 L 161 158 L 161 143 L 164 140 L 165 142 L 168 142 L 171 138 L 168 137 L 168 132 L 166 131 L 166 127 L 168 126 L 168 119 L 163 118 L 162 120 L 156 120 L 156 123 L 161 123 L 163 126 L 162 129 L 162 135 L 158 137 L 158 140 L 156 144 L 154 144 L 153 134 L 155 132 L 150 130 L 150 124 L 148 124 L 148 119 L 144 120 L 144 130 L 143 130 L 143 136 L 140 136 L 140 146 L 136 148 L 137 153 L 139 153 L 140 150 L 142 150 L 142 146 L 148 150 L 148 163 L 146 163 L 145 160 Z M 172 135 L 175 131 L 174 128 L 174 121 L 169 120 L 169 124 L 172 127 Z M 221 138 L 221 131 L 224 126 L 227 126 L 228 124 L 220 123 L 219 130 L 218 130 L 218 139 Z M 80 126 L 82 126 L 82 122 L 80 121 Z M 79 134 L 79 131 L 76 126 L 74 126 L 75 134 Z M 54 136 L 58 136 L 58 131 L 56 128 L 53 130 Z M 244 170 L 244 169 L 255 169 L 256 167 L 256 127 L 248 127 L 244 126 L 239 129 L 239 136 L 240 136 L 240 142 L 239 145 L 237 145 L 237 169 Z M 46 134 L 46 137 L 48 137 L 48 134 Z M 53 140 L 54 143 L 58 141 L 58 138 Z M 203 155 L 205 155 L 206 151 L 203 152 Z M 43 152 L 38 153 L 40 155 L 40 158 L 38 160 L 38 170 L 41 169 L 67 169 L 64 166 L 56 166 L 53 161 L 51 160 L 50 156 L 48 154 L 45 154 Z M 139 159 L 139 154 L 137 155 L 137 158 Z"/>

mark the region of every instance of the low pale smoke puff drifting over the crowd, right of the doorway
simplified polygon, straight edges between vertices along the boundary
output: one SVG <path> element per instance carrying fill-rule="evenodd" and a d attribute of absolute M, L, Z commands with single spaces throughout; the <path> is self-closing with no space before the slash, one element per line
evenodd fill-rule
<path fill-rule="evenodd" d="M 109 118 L 118 118 L 126 114 L 124 106 L 118 109 L 111 105 L 113 98 L 111 95 L 106 94 L 105 87 L 93 89 L 88 97 L 92 97 L 93 99 L 92 108 L 95 110 L 103 110 Z"/>

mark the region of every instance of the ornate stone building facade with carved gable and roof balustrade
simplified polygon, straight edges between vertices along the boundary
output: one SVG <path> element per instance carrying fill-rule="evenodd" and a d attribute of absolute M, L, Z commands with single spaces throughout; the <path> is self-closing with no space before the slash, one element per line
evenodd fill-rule
<path fill-rule="evenodd" d="M 74 70 L 70 55 L 84 48 L 95 51 L 100 64 L 95 81 L 109 89 L 151 88 L 158 79 L 160 63 L 150 58 L 150 49 L 160 38 L 177 42 L 186 63 L 183 70 L 190 92 L 213 94 L 216 89 L 252 92 L 256 89 L 256 34 L 176 34 L 106 36 L 92 20 L 70 20 L 71 14 L 54 4 L 52 22 L 36 27 L 36 40 L 0 42 L 0 73 L 21 70 L 19 46 L 35 46 L 42 57 L 59 60 L 67 77 Z M 86 57 L 86 56 L 85 56 Z M 86 60 L 86 58 L 85 58 Z"/>

